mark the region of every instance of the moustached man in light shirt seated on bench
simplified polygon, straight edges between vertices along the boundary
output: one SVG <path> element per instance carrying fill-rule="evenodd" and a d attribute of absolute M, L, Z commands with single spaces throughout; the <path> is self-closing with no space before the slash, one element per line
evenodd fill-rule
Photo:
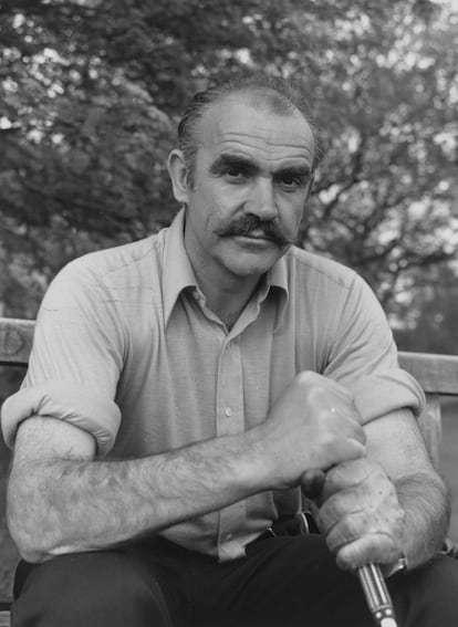
<path fill-rule="evenodd" d="M 14 625 L 368 626 L 355 571 L 405 558 L 402 625 L 457 624 L 423 393 L 366 284 L 292 245 L 321 158 L 303 100 L 225 84 L 179 146 L 184 209 L 60 273 L 3 407 Z M 274 537 L 301 487 L 321 534 Z"/>

